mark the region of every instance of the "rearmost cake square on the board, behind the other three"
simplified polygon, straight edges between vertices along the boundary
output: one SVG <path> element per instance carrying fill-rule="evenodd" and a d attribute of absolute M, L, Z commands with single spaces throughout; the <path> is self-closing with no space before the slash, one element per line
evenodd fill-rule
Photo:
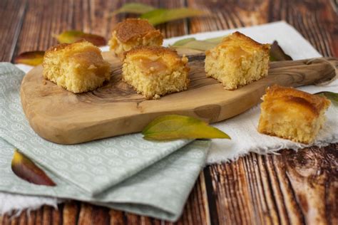
<path fill-rule="evenodd" d="M 123 60 L 124 53 L 136 46 L 162 46 L 163 35 L 145 19 L 126 19 L 113 29 L 109 46 Z"/>

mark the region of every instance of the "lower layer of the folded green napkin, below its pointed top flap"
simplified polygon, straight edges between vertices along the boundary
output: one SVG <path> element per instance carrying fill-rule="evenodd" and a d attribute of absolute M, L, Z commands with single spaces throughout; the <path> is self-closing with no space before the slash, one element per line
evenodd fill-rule
<path fill-rule="evenodd" d="M 205 164 L 209 145 L 208 140 L 192 142 L 93 197 L 49 171 L 46 173 L 56 182 L 55 187 L 30 184 L 16 177 L 11 171 L 14 146 L 0 139 L 0 191 L 78 199 L 135 214 L 175 221 L 182 213 L 200 169 Z"/>

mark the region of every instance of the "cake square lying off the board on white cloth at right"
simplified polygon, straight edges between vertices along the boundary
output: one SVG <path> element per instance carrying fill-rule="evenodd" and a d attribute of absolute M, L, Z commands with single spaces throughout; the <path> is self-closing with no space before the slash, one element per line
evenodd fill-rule
<path fill-rule="evenodd" d="M 295 88 L 267 88 L 260 105 L 258 132 L 309 144 L 324 126 L 327 98 Z"/>

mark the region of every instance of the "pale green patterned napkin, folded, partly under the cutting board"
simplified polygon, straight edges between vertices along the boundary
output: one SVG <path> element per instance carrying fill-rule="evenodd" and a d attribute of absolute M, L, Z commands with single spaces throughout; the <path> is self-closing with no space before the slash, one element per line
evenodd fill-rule
<path fill-rule="evenodd" d="M 150 142 L 140 134 L 80 145 L 58 145 L 36 135 L 19 96 L 24 73 L 0 63 L 0 190 L 80 199 L 160 219 L 175 220 L 205 163 L 210 142 Z M 29 184 L 10 168 L 17 147 L 56 187 Z M 180 150 L 179 150 L 180 149 Z"/>

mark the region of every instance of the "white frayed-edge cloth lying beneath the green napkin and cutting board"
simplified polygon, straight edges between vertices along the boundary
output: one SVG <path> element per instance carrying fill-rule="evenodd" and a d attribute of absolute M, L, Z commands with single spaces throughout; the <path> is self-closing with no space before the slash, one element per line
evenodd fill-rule
<path fill-rule="evenodd" d="M 195 37 L 199 40 L 205 38 L 213 38 L 218 36 L 224 36 L 233 31 L 240 31 L 245 35 L 252 37 L 256 41 L 262 43 L 272 43 L 277 40 L 283 50 L 292 56 L 294 60 L 304 58 L 317 58 L 321 55 L 305 40 L 295 28 L 279 21 L 275 23 L 267 23 L 260 26 L 252 26 L 248 28 L 238 28 L 228 31 L 215 31 L 207 33 L 196 33 L 188 36 L 180 36 L 175 38 L 169 38 L 164 41 L 164 45 L 174 43 L 182 38 Z M 108 51 L 108 46 L 102 48 L 103 51 Z M 17 65 L 21 70 L 28 72 L 31 67 L 24 65 Z M 309 85 L 307 87 L 299 88 L 300 90 L 307 91 L 309 93 L 317 93 L 319 91 L 327 90 L 332 92 L 338 92 L 338 80 L 327 86 L 314 86 Z M 327 112 L 328 120 L 324 129 L 319 132 L 314 145 L 328 145 L 330 142 L 338 141 L 338 110 L 337 108 L 330 107 Z M 277 150 L 290 148 L 297 150 L 305 145 L 291 142 L 288 140 L 282 140 L 278 137 L 270 137 L 267 135 L 261 135 L 257 132 L 258 117 L 260 115 L 259 105 L 242 113 L 236 117 L 233 117 L 224 122 L 215 123 L 215 127 L 227 132 L 232 137 L 232 140 L 212 140 L 212 146 L 208 155 L 208 163 L 226 162 L 228 160 L 237 159 L 238 157 L 247 154 L 248 152 L 257 152 L 260 154 L 267 154 L 276 152 Z M 34 198 L 36 200 L 34 200 Z M 19 200 L 18 200 L 19 199 Z M 16 202 L 29 202 L 29 204 L 17 205 Z M 0 214 L 6 212 L 6 209 L 24 209 L 26 206 L 36 208 L 42 204 L 55 205 L 57 199 L 43 198 L 43 197 L 26 197 L 12 194 L 1 194 L 0 202 L 3 202 L 6 207 L 0 207 Z"/>

